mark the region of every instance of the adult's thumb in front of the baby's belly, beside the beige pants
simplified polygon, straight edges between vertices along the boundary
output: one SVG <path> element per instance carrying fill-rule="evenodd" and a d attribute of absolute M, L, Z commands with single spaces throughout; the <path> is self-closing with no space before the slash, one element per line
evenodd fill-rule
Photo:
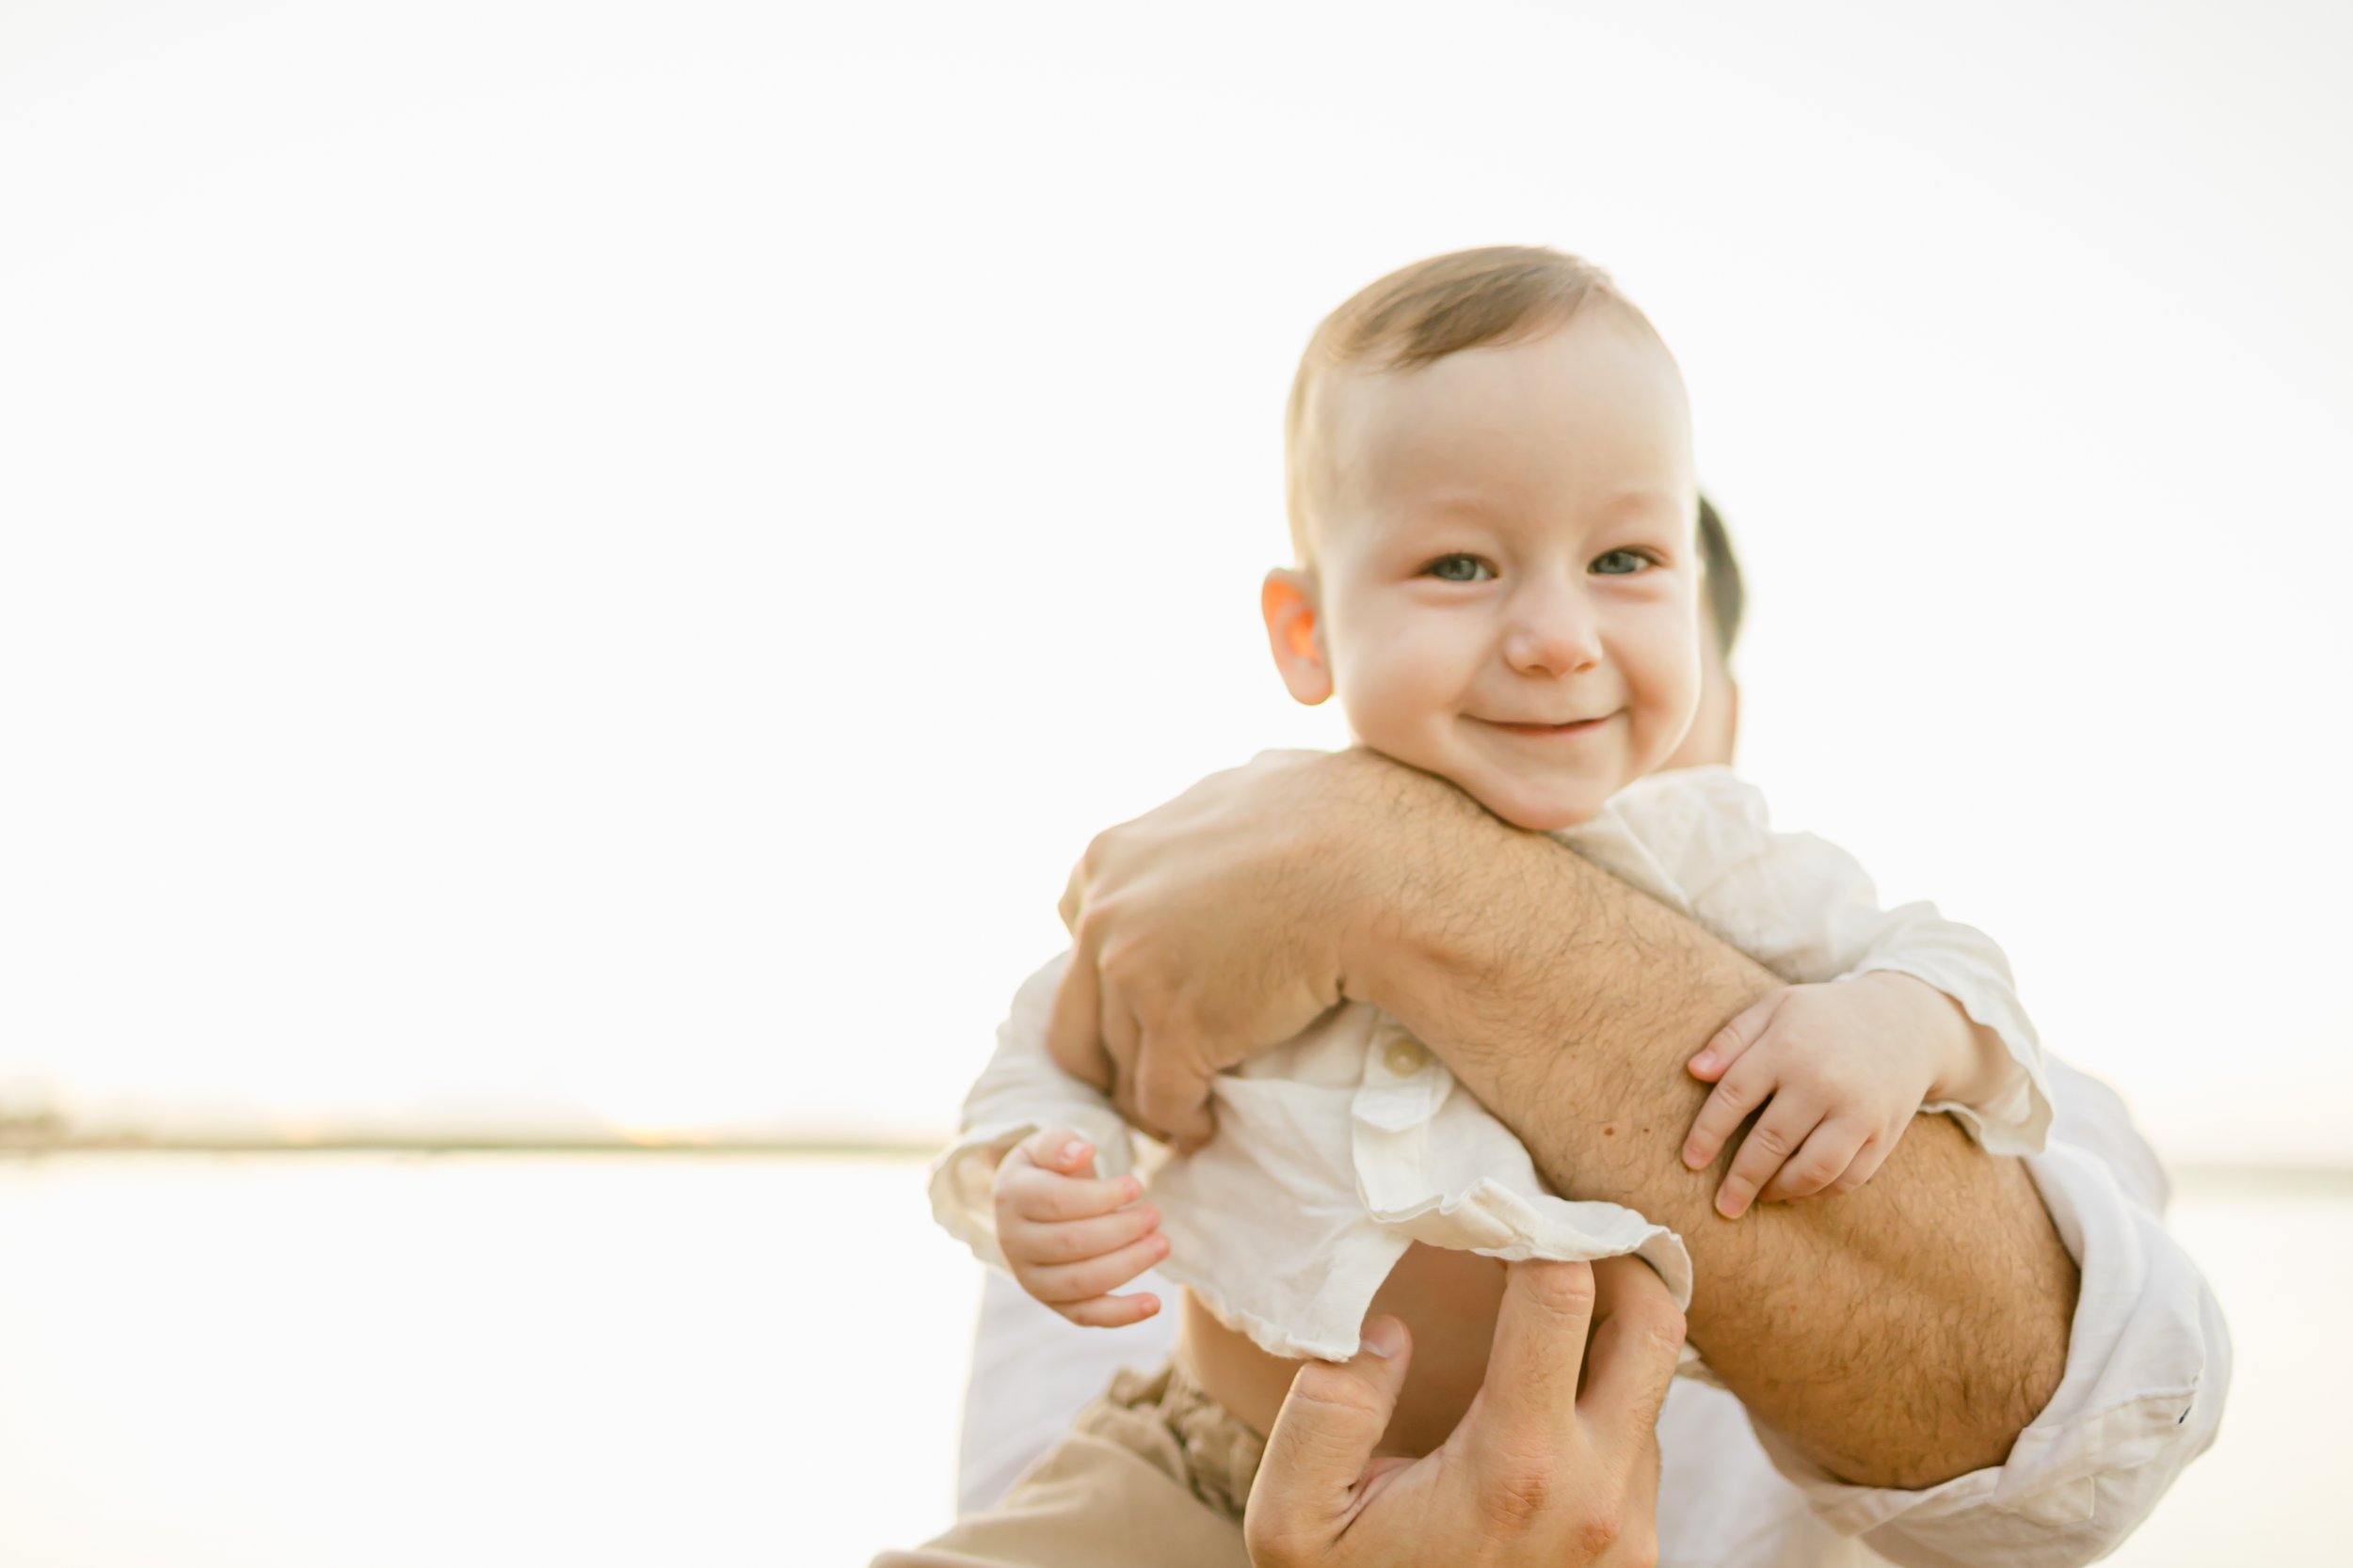
<path fill-rule="evenodd" d="M 1242 1533 L 1254 1563 L 1320 1561 L 1339 1537 L 1412 1354 L 1405 1324 L 1377 1316 L 1355 1356 L 1299 1368 L 1249 1488 Z"/>

